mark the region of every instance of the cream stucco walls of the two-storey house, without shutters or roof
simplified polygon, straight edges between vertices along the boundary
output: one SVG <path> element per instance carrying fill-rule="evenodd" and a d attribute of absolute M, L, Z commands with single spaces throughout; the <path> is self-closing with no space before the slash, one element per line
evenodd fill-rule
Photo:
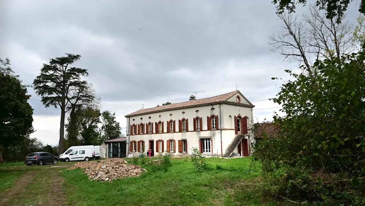
<path fill-rule="evenodd" d="M 235 101 L 235 96 L 232 97 Z M 241 97 L 241 102 L 244 101 L 244 98 Z M 212 110 L 214 108 L 214 110 Z M 199 112 L 196 112 L 199 110 Z M 183 114 L 183 112 L 185 112 Z M 170 116 L 172 114 L 172 116 Z M 218 130 L 207 131 L 207 117 L 210 117 L 212 114 L 218 115 L 217 127 Z M 159 117 L 161 115 L 161 117 Z M 154 140 L 154 150 L 156 148 L 156 140 L 164 141 L 164 151 L 166 150 L 167 140 L 174 139 L 176 141 L 176 151 L 172 153 L 172 155 L 179 155 L 178 153 L 178 140 L 186 139 L 188 154 L 191 154 L 191 148 L 197 147 L 199 148 L 199 138 L 207 137 L 211 138 L 213 141 L 212 153 L 203 154 L 206 156 L 218 155 L 221 156 L 222 152 L 226 151 L 227 147 L 231 144 L 233 139 L 235 138 L 235 130 L 234 130 L 234 116 L 241 115 L 242 117 L 248 117 L 248 127 L 250 128 L 250 124 L 252 121 L 252 108 L 247 108 L 243 106 L 236 105 L 211 105 L 211 106 L 200 106 L 195 108 L 188 109 L 180 109 L 180 110 L 171 110 L 153 114 L 145 114 L 138 115 L 134 117 L 127 117 L 127 154 L 133 153 L 134 155 L 139 155 L 141 152 L 130 152 L 129 151 L 129 143 L 132 140 L 145 141 L 146 150 L 148 149 L 149 140 Z M 193 131 L 193 118 L 194 117 L 202 117 L 202 131 Z M 231 117 L 230 117 L 231 116 Z M 151 118 L 149 118 L 151 117 Z M 142 118 L 142 120 L 141 120 Z M 186 118 L 188 120 L 188 129 L 187 132 L 178 132 L 178 120 L 182 118 Z M 133 120 L 134 119 L 134 120 Z M 176 132 L 167 132 L 167 122 L 169 120 L 175 120 L 175 130 Z M 130 134 L 130 125 L 132 124 L 148 124 L 149 122 L 153 123 L 153 132 L 155 132 L 155 122 L 163 121 L 164 122 L 164 133 L 153 133 L 153 134 L 143 134 L 143 135 L 129 135 Z M 130 123 L 130 124 L 128 124 Z M 222 129 L 222 131 L 220 130 Z M 145 131 L 146 132 L 146 131 Z M 222 136 L 222 147 L 221 147 L 221 136 Z M 247 137 L 246 137 L 247 138 Z M 237 152 L 237 148 L 235 149 Z M 146 152 L 146 151 L 145 151 Z M 155 152 L 155 155 L 158 155 Z"/>

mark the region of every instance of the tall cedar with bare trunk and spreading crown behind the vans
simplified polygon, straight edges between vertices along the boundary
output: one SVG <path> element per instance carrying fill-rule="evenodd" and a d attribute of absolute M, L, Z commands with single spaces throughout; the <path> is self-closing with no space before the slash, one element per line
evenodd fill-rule
<path fill-rule="evenodd" d="M 66 57 L 50 59 L 49 64 L 43 64 L 41 74 L 33 81 L 35 92 L 42 97 L 46 107 L 54 106 L 61 109 L 59 128 L 59 154 L 64 152 L 65 114 L 72 105 L 81 101 L 92 101 L 93 95 L 85 92 L 87 81 L 81 77 L 88 76 L 87 69 L 70 67 L 81 58 L 81 55 L 66 53 Z"/>

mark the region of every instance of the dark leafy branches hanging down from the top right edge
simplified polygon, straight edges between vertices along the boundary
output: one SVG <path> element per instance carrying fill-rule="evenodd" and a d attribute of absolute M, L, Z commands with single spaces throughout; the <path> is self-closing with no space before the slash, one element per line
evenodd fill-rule
<path fill-rule="evenodd" d="M 326 18 L 333 19 L 337 17 L 336 22 L 340 23 L 344 12 L 347 10 L 348 5 L 353 0 L 317 0 L 316 6 L 321 10 L 326 10 Z M 295 12 L 295 4 L 306 5 L 307 0 L 273 0 L 273 4 L 277 5 L 277 13 L 282 14 L 285 9 L 291 12 Z M 365 14 L 365 1 L 360 1 L 359 12 Z"/>

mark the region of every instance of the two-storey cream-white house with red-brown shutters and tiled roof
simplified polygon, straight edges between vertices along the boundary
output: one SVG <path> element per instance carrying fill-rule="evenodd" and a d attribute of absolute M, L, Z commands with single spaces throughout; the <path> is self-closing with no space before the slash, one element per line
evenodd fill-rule
<path fill-rule="evenodd" d="M 125 116 L 127 153 L 136 156 L 151 148 L 153 155 L 181 155 L 197 147 L 203 156 L 249 156 L 253 107 L 234 91 L 203 99 L 192 95 L 189 101 L 137 110 Z"/>

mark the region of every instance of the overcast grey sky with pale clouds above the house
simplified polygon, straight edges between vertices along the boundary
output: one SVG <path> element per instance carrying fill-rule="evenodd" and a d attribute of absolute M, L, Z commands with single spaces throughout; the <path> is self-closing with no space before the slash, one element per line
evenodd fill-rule
<path fill-rule="evenodd" d="M 280 29 L 268 0 L 2 0 L 0 58 L 31 84 L 48 59 L 80 54 L 103 110 L 124 115 L 166 101 L 187 101 L 238 90 L 254 105 L 254 121 L 272 120 L 284 69 L 296 64 L 270 51 Z M 358 15 L 356 2 L 348 19 Z M 305 8 L 298 8 L 305 11 Z M 60 110 L 45 108 L 34 91 L 32 134 L 57 145 Z M 273 109 L 268 109 L 273 108 Z"/>

